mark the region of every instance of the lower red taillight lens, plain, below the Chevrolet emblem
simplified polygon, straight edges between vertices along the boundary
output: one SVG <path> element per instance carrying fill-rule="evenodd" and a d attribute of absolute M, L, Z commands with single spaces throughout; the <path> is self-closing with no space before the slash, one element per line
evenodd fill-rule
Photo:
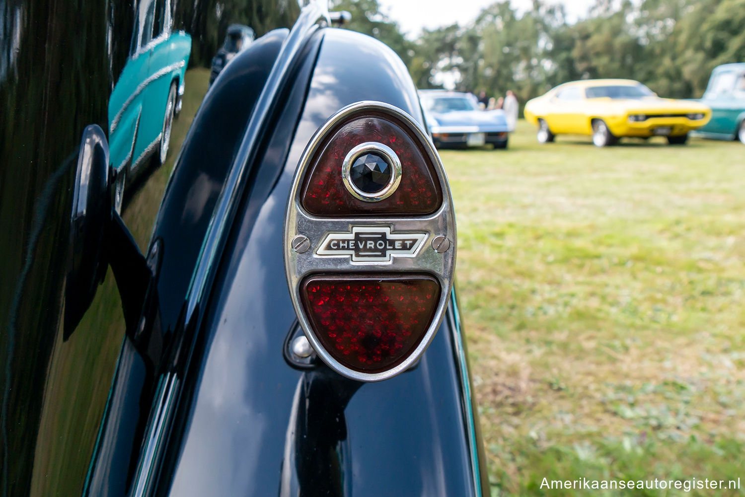
<path fill-rule="evenodd" d="M 440 301 L 425 273 L 322 273 L 305 278 L 300 296 L 323 348 L 352 370 L 394 367 L 422 341 Z"/>

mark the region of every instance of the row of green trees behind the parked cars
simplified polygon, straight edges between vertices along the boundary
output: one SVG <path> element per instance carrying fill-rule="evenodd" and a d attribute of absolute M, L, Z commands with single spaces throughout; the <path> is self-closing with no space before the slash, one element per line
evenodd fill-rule
<path fill-rule="evenodd" d="M 509 1 L 485 7 L 467 25 L 407 39 L 377 0 L 333 0 L 346 27 L 381 39 L 416 85 L 489 96 L 512 89 L 521 103 L 569 80 L 640 80 L 658 95 L 700 98 L 711 69 L 745 62 L 745 0 L 596 0 L 577 22 L 549 1 L 521 12 Z"/>

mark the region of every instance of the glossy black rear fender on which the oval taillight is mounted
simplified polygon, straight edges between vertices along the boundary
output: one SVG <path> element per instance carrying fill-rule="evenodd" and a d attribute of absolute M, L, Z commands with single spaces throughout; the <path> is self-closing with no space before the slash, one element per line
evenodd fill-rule
<path fill-rule="evenodd" d="M 302 372 L 282 356 L 295 319 L 279 277 L 282 220 L 302 149 L 323 121 L 355 101 L 387 101 L 423 121 L 416 90 L 392 52 L 347 31 L 323 34 L 292 144 L 255 165 L 224 251 L 205 336 L 184 382 L 178 436 L 168 447 L 172 469 L 163 472 L 160 490 L 171 496 L 479 495 L 484 482 L 475 481 L 472 468 L 470 402 L 461 396 L 447 320 L 419 366 L 386 382 L 350 387 L 325 367 Z M 278 126 L 275 133 L 288 131 Z M 308 439 L 317 450 L 308 449 Z"/>

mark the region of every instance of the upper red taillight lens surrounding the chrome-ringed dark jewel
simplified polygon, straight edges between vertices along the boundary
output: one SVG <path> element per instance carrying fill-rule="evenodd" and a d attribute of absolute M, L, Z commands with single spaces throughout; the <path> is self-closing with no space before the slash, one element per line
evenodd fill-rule
<path fill-rule="evenodd" d="M 311 160 L 302 187 L 302 207 L 311 214 L 427 215 L 443 203 L 434 165 L 395 119 L 352 115 L 332 133 L 326 147 Z M 396 191 L 375 203 L 355 198 L 340 174 L 346 153 L 364 142 L 380 142 L 393 149 L 404 171 Z"/>

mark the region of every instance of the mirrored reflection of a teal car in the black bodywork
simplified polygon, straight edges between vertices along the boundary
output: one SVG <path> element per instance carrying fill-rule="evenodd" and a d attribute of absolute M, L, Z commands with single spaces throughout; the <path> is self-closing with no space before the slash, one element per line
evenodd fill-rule
<path fill-rule="evenodd" d="M 174 115 L 181 107 L 191 37 L 171 32 L 169 0 L 136 4 L 130 55 L 109 99 L 109 147 L 117 203 L 127 177 L 153 153 L 165 162 Z"/>

